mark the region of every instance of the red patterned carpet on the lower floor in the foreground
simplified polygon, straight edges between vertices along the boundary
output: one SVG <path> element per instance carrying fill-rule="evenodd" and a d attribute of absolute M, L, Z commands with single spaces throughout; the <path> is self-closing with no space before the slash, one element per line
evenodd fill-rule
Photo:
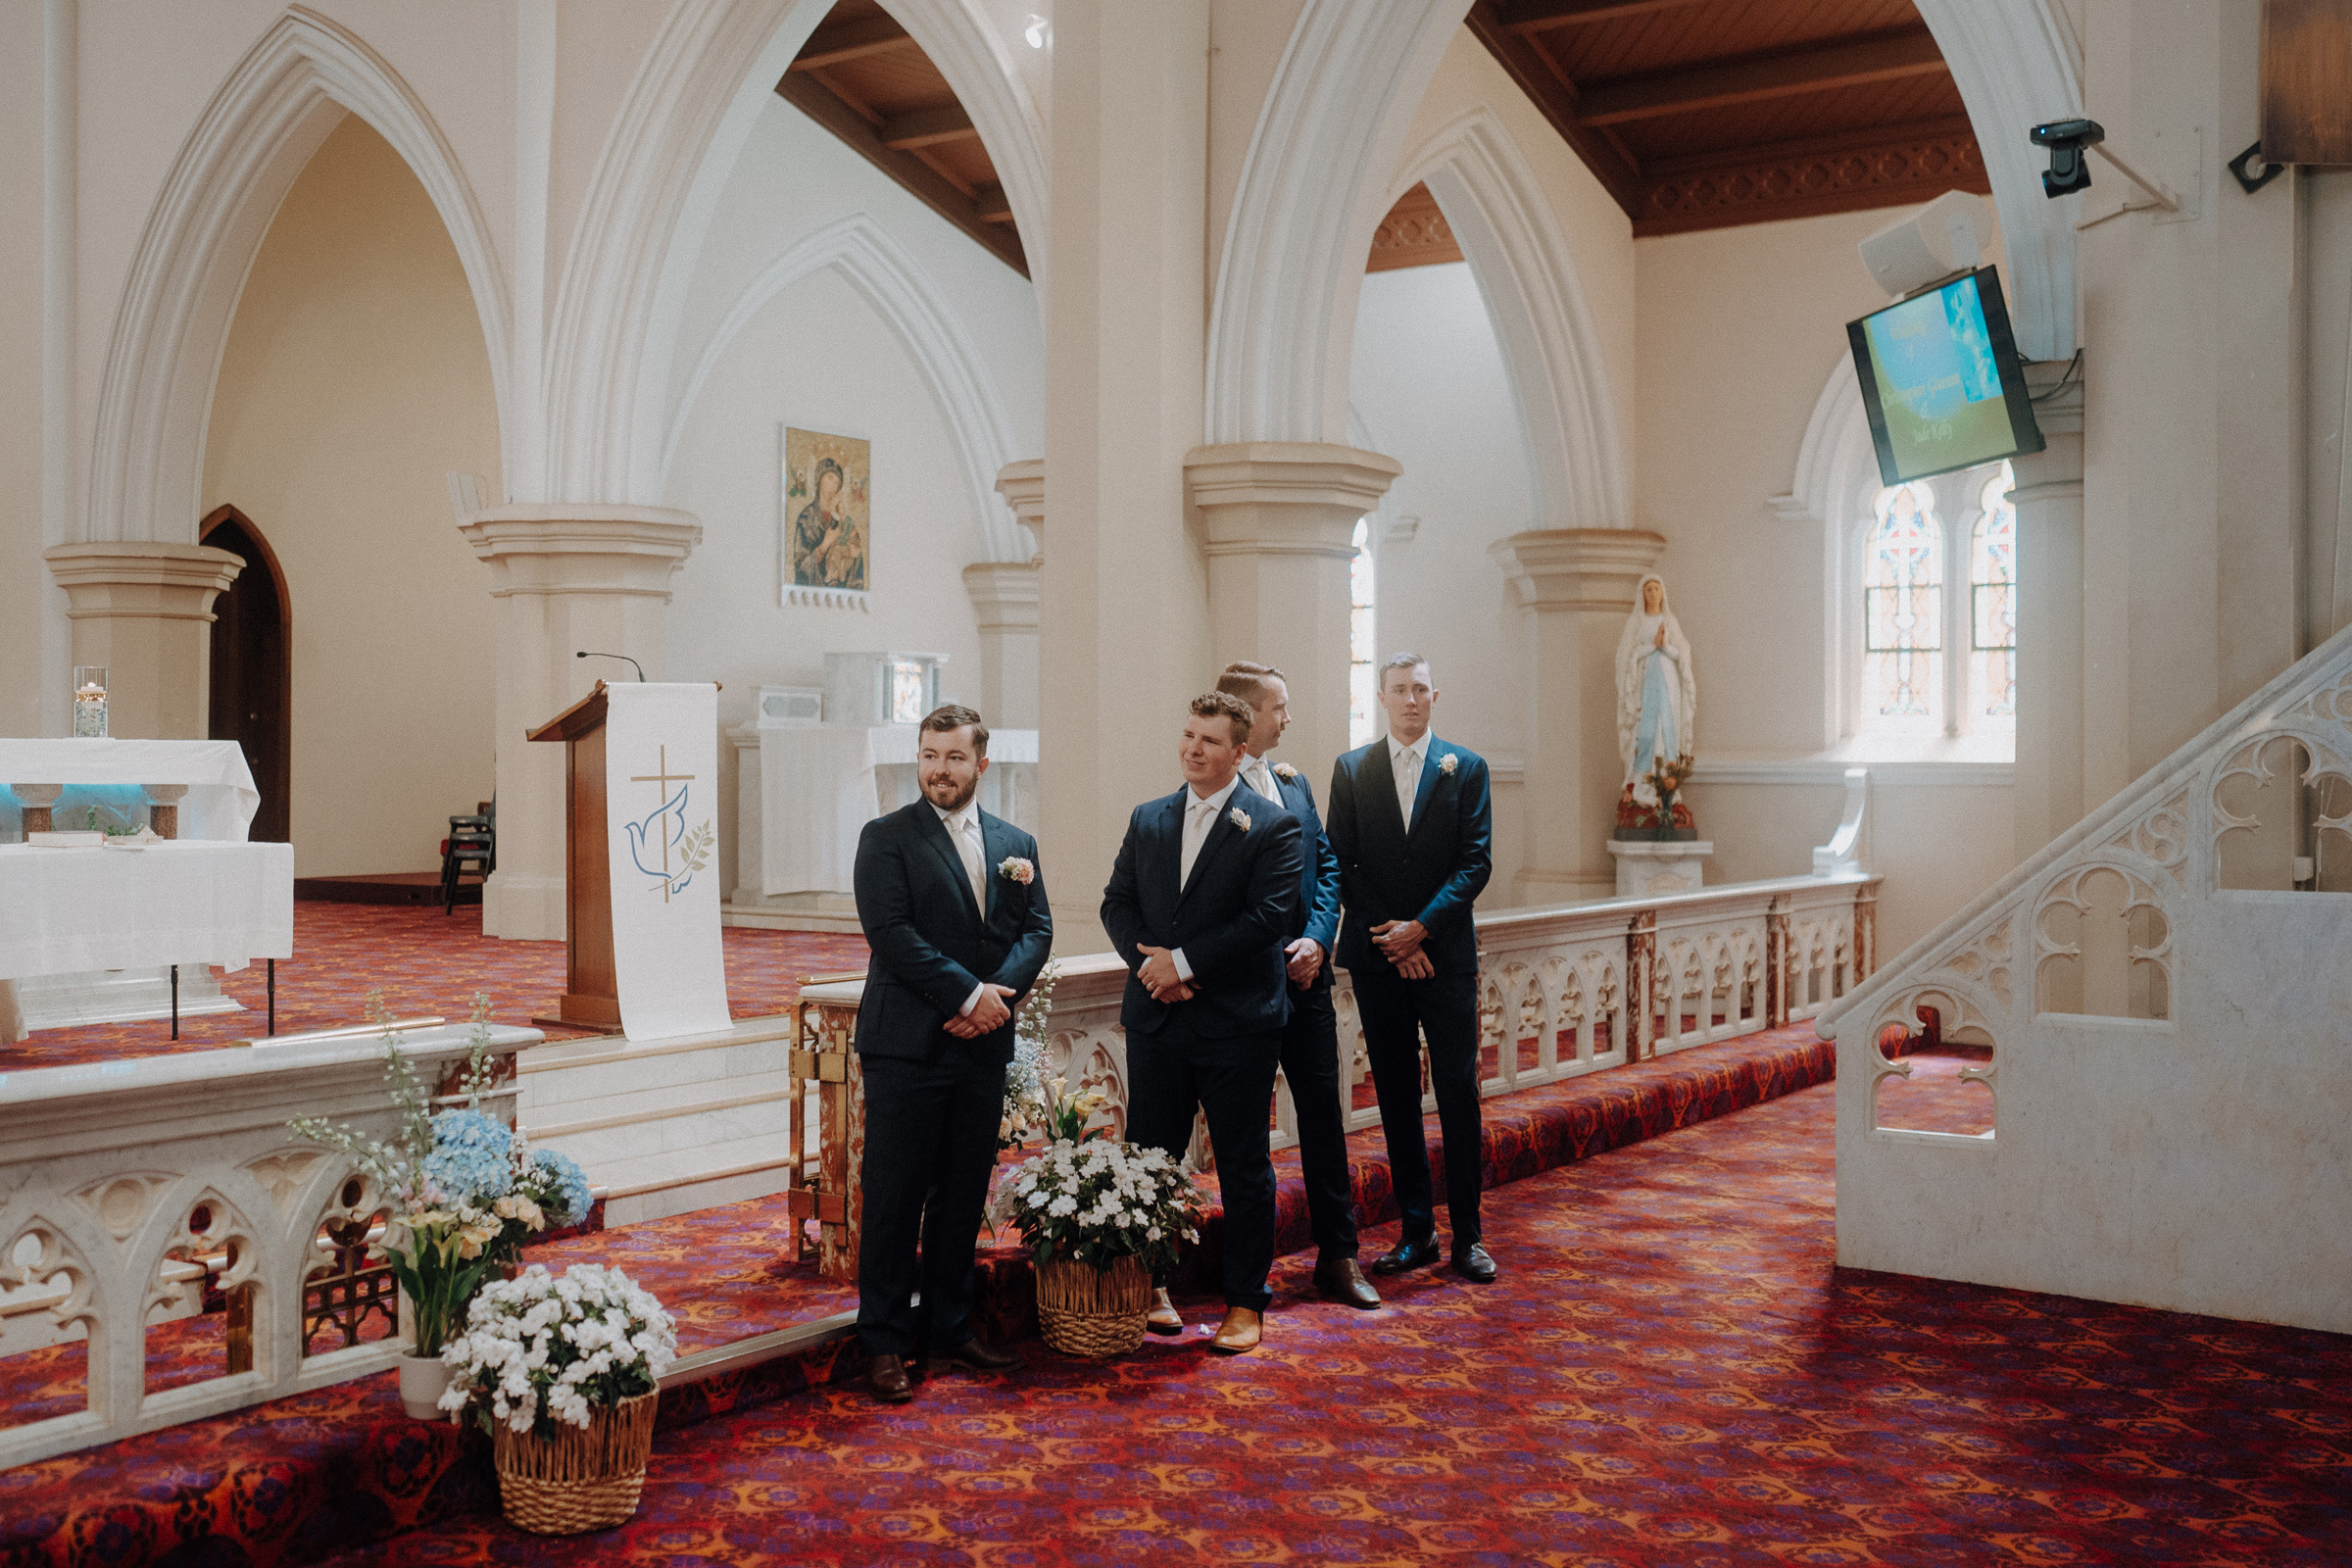
<path fill-rule="evenodd" d="M 1496 1286 L 1362 1314 L 1294 1255 L 1254 1356 L 833 1385 L 661 1439 L 621 1530 L 339 1561 L 2352 1561 L 2352 1340 L 1837 1269 L 1832 1121 L 1818 1086 L 1515 1182 Z"/>

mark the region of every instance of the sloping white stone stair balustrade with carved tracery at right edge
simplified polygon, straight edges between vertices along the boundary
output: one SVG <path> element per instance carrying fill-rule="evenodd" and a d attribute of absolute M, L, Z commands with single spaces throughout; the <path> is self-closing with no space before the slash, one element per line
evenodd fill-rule
<path fill-rule="evenodd" d="M 2352 1331 L 2352 628 L 1818 1027 L 1839 1262 Z"/>

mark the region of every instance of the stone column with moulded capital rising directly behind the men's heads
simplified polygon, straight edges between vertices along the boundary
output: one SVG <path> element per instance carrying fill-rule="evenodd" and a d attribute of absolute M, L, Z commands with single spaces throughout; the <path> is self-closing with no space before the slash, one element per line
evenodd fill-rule
<path fill-rule="evenodd" d="M 1240 442 L 1185 456 L 1209 536 L 1209 663 L 1256 658 L 1284 672 L 1291 731 L 1282 757 L 1317 790 L 1348 750 L 1355 522 L 1402 473 L 1378 451 L 1324 442 Z"/>

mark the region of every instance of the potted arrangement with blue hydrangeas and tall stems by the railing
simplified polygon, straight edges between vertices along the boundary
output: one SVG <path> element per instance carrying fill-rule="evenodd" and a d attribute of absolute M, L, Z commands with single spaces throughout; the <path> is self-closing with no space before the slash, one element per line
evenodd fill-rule
<path fill-rule="evenodd" d="M 320 1117 L 287 1126 L 348 1154 L 383 1194 L 388 1222 L 376 1251 L 400 1281 L 414 1331 L 400 1359 L 400 1403 L 416 1420 L 437 1420 L 449 1331 L 482 1281 L 515 1265 L 527 1239 L 588 1218 L 588 1178 L 569 1154 L 529 1147 L 520 1128 L 482 1110 L 492 1088 L 489 997 L 473 999 L 473 1053 L 459 1081 L 466 1105 L 437 1114 L 400 1051 L 383 992 L 367 994 L 367 1018 L 383 1030 L 383 1079 L 400 1110 L 400 1138 L 381 1143 Z"/>

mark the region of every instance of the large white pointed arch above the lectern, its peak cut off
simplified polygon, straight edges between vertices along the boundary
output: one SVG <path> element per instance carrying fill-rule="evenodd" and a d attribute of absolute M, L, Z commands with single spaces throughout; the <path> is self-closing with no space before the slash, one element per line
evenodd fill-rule
<path fill-rule="evenodd" d="M 1047 233 L 1044 122 L 976 0 L 882 0 L 971 115 L 1014 223 Z M 720 190 L 830 0 L 684 0 L 581 207 L 548 339 L 548 498 L 656 505 L 677 320 Z M 1030 277 L 1044 292 L 1044 244 Z"/>

